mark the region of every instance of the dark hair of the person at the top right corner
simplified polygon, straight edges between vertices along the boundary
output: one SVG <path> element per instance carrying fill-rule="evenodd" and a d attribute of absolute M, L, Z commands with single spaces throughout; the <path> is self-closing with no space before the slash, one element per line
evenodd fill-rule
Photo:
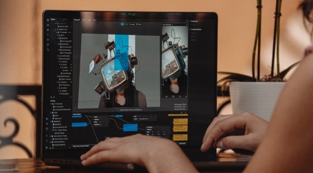
<path fill-rule="evenodd" d="M 313 10 L 313 0 L 302 0 L 300 2 L 299 9 L 302 10 L 303 14 L 303 23 L 306 27 L 307 31 L 310 33 L 311 40 L 312 40 L 312 33 L 313 33 L 313 16 L 312 16 L 312 10 Z"/>

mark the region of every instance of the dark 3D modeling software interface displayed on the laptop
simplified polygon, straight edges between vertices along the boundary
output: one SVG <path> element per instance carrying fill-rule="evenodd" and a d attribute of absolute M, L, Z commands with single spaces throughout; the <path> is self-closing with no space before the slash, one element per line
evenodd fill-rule
<path fill-rule="evenodd" d="M 188 67 L 204 51 L 194 45 L 202 27 L 185 19 L 44 18 L 44 70 L 52 71 L 44 83 L 51 86 L 45 149 L 90 148 L 135 133 L 188 145 Z"/>

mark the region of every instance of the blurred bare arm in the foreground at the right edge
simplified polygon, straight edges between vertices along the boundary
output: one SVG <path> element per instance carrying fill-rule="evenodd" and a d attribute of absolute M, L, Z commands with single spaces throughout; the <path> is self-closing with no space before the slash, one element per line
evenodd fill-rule
<path fill-rule="evenodd" d="M 306 57 L 286 83 L 264 140 L 246 171 L 313 170 L 313 55 Z"/>

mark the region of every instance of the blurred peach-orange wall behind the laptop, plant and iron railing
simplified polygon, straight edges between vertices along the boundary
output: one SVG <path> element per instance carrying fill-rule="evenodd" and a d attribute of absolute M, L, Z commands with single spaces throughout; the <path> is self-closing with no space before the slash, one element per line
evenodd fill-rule
<path fill-rule="evenodd" d="M 281 69 L 302 58 L 310 44 L 297 5 L 301 0 L 283 0 L 280 30 Z M 261 74 L 270 73 L 275 0 L 262 2 Z M 45 9 L 120 10 L 120 11 L 215 11 L 218 24 L 218 71 L 251 75 L 251 56 L 256 29 L 256 0 L 0 0 L 0 85 L 41 85 L 42 12 Z M 218 75 L 218 78 L 222 76 Z M 0 94 L 1 98 L 1 94 Z M 34 97 L 25 97 L 34 102 Z M 224 98 L 218 98 L 218 104 Z M 23 141 L 35 152 L 35 119 L 22 105 L 0 105 L 0 137 L 10 135 L 14 125 L 4 125 L 8 117 L 20 121 L 14 139 Z M 34 106 L 34 104 L 32 104 Z M 222 113 L 231 113 L 231 105 Z M 23 122 L 23 123 L 21 123 Z M 6 151 L 3 151 L 6 150 Z M 21 158 L 27 154 L 6 146 L 0 158 Z"/>

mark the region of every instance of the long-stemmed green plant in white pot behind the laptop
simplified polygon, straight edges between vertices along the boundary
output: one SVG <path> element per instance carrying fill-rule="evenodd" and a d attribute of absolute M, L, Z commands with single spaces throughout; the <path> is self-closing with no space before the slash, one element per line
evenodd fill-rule
<path fill-rule="evenodd" d="M 227 74 L 227 76 L 218 80 L 218 83 L 222 83 L 222 90 L 229 87 L 233 113 L 235 114 L 248 111 L 266 120 L 270 120 L 280 90 L 286 81 L 285 75 L 294 66 L 300 63 L 300 61 L 295 62 L 282 71 L 280 71 L 279 68 L 279 28 L 281 1 L 282 0 L 276 0 L 270 74 L 260 77 L 261 0 L 257 0 L 257 25 L 252 53 L 252 75 L 249 76 L 241 73 L 225 71 L 218 72 L 219 74 Z M 276 73 L 274 73 L 275 60 L 277 65 Z M 256 74 L 255 71 L 257 71 Z"/>

